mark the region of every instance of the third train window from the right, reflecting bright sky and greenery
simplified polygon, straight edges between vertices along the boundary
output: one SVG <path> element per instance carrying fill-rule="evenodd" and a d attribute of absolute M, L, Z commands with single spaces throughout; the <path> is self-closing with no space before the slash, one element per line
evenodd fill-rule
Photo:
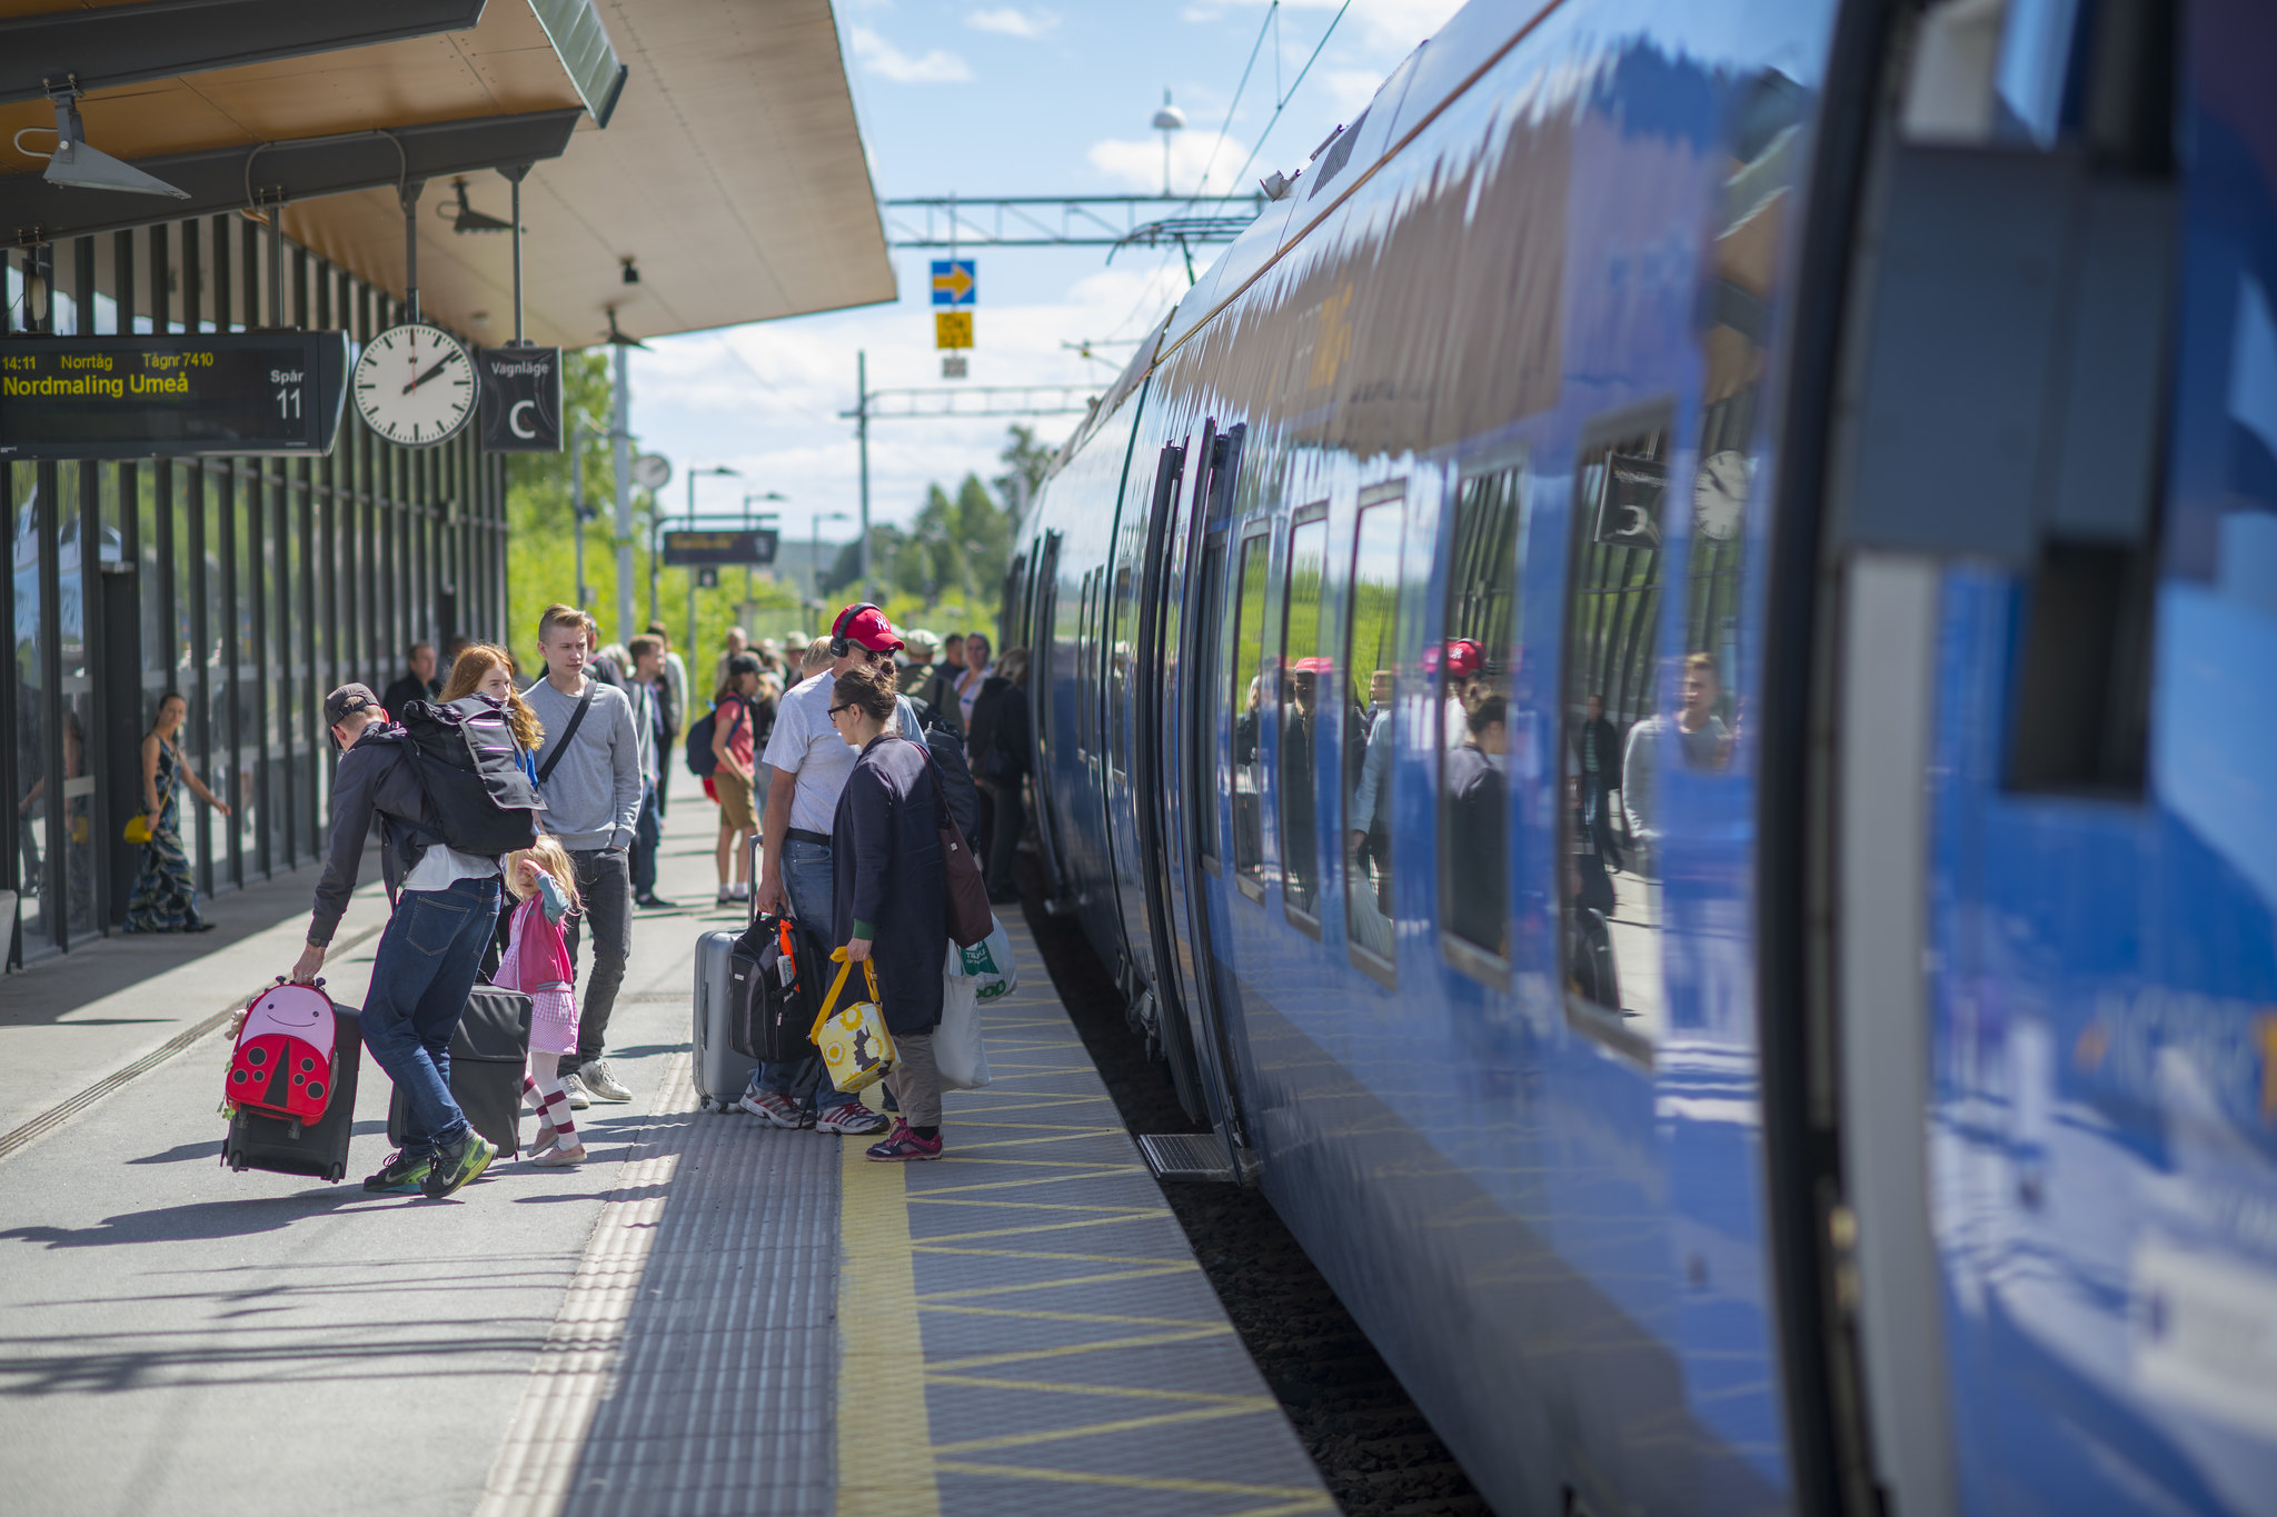
<path fill-rule="evenodd" d="M 1343 635 L 1343 666 L 1353 671 L 1343 712 L 1343 839 L 1350 862 L 1343 876 L 1343 930 L 1346 942 L 1382 967 L 1391 964 L 1391 689 L 1398 666 L 1405 505 L 1405 480 L 1359 491 Z"/>

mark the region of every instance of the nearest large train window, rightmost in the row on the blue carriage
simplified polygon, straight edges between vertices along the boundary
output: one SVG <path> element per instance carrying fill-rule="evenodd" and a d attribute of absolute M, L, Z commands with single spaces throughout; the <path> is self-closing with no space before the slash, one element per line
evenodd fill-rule
<path fill-rule="evenodd" d="M 1637 1058 L 1651 1058 L 1662 1026 L 1653 780 L 1671 753 L 1721 764 L 1719 737 L 1694 739 L 1674 710 L 1662 714 L 1705 664 L 1683 680 L 1660 669 L 1667 437 L 1667 409 L 1589 432 L 1573 471 L 1567 575 L 1567 1008 L 1576 1026 Z"/>

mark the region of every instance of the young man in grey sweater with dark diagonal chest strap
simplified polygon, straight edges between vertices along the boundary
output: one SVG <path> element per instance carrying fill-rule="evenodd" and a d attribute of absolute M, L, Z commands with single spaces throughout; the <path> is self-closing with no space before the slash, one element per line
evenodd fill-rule
<path fill-rule="evenodd" d="M 608 1014 L 617 1008 L 624 960 L 633 953 L 633 869 L 628 851 L 640 821 L 640 735 L 633 703 L 622 689 L 587 678 L 592 619 L 574 605 L 546 607 L 537 619 L 537 653 L 546 675 L 521 691 L 544 723 L 537 744 L 537 794 L 546 798 L 546 830 L 569 851 L 585 907 L 562 930 L 569 964 L 592 928 L 592 976 L 578 1001 L 576 1069 L 562 1078 L 569 1105 L 631 1101 L 603 1058 Z M 583 714 L 581 714 L 583 712 Z"/>

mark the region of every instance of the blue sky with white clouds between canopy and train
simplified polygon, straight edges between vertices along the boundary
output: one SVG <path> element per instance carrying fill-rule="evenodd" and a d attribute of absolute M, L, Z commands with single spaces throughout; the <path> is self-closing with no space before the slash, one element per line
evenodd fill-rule
<path fill-rule="evenodd" d="M 1460 0 L 1350 0 L 1339 16 L 1339 5 L 838 0 L 836 14 L 881 198 L 1159 193 L 1161 136 L 1148 123 L 1164 89 L 1189 123 L 1170 157 L 1170 184 L 1186 196 L 1205 171 L 1209 193 L 1234 193 L 1275 168 L 1300 168 L 1460 9 Z M 1236 98 L 1252 48 L 1257 61 Z M 1200 250 L 1195 268 L 1216 255 Z M 745 494 L 776 491 L 783 500 L 754 509 L 779 512 L 786 532 L 808 537 L 817 514 L 845 512 L 845 521 L 822 521 L 822 537 L 852 537 L 858 462 L 854 423 L 840 412 L 854 407 L 854 355 L 868 353 L 872 389 L 952 384 L 940 378 L 931 314 L 931 259 L 947 252 L 893 248 L 890 257 L 893 305 L 667 337 L 631 355 L 633 432 L 672 459 L 665 498 L 674 509 L 685 509 L 690 466 L 729 466 L 742 478 L 697 480 L 699 509 L 733 512 Z M 979 262 L 970 387 L 1104 391 L 1186 287 L 1177 250 L 1125 248 L 1113 264 L 1107 248 L 970 257 Z M 1072 341 L 1102 343 L 1095 353 L 1109 362 L 1084 359 L 1063 346 Z M 1075 421 L 1029 425 L 1057 444 Z M 954 489 L 965 471 L 990 478 L 1004 425 L 872 423 L 872 521 L 906 523 L 929 482 Z"/>

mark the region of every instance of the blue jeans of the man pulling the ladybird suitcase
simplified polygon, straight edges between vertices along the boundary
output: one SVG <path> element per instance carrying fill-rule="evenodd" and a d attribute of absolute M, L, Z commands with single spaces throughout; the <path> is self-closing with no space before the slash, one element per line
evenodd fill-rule
<path fill-rule="evenodd" d="M 496 876 L 451 889 L 408 889 L 380 932 L 364 998 L 364 1048 L 403 1092 L 403 1153 L 421 1155 L 467 1135 L 451 1099 L 451 1035 L 499 923 Z"/>

